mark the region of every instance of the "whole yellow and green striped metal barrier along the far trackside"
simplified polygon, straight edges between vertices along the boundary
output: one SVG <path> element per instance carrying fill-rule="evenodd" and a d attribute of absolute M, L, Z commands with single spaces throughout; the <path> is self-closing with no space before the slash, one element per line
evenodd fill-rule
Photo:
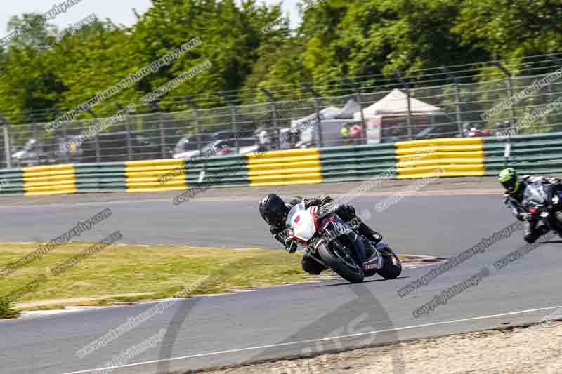
<path fill-rule="evenodd" d="M 385 178 L 497 175 L 505 141 L 441 138 L 395 144 L 289 149 L 209 158 L 80 163 L 0 170 L 0 195 L 175 191 L 209 185 L 275 186 Z M 562 133 L 514 135 L 509 166 L 562 173 Z"/>

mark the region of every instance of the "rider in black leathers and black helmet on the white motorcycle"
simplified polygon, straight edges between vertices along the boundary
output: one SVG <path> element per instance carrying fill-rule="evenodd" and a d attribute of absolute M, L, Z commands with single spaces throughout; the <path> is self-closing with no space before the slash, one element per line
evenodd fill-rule
<path fill-rule="evenodd" d="M 301 201 L 304 201 L 306 208 L 310 206 L 318 206 L 318 208 L 322 208 L 327 204 L 334 203 L 334 199 L 330 196 L 320 196 L 313 199 L 303 199 L 302 197 L 296 196 L 290 203 L 285 203 L 285 201 L 277 196 L 277 194 L 269 194 L 259 202 L 261 217 L 270 225 L 270 232 L 273 234 L 273 237 L 282 243 L 289 253 L 296 251 L 297 245 L 296 241 L 285 234 L 285 229 L 287 229 L 285 220 L 287 220 L 287 213 L 289 213 L 293 206 L 301 203 Z M 355 208 L 353 208 L 353 206 L 341 204 L 334 208 L 334 213 L 339 215 L 339 217 L 346 222 L 351 220 L 357 222 L 358 232 L 370 241 L 378 243 L 382 240 L 381 234 L 365 225 L 365 223 L 363 223 L 361 219 L 355 215 Z M 312 256 L 308 255 L 306 252 L 303 256 L 301 265 L 304 271 L 308 272 L 308 274 L 320 274 L 322 270 L 326 269 L 324 265 L 314 260 Z"/>

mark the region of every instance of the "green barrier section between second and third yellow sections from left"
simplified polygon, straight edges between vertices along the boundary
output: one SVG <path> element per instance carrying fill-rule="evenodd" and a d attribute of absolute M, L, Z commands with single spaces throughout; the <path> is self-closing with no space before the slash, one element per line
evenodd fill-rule
<path fill-rule="evenodd" d="M 249 185 L 246 156 L 227 155 L 189 159 L 185 160 L 185 169 L 188 188 L 209 184 L 211 187 Z"/>

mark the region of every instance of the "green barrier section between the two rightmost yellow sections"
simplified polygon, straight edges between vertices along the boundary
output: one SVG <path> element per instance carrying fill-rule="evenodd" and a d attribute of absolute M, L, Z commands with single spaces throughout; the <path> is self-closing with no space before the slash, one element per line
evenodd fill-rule
<path fill-rule="evenodd" d="M 322 180 L 353 182 L 376 175 L 396 176 L 396 147 L 392 143 L 320 148 Z"/>

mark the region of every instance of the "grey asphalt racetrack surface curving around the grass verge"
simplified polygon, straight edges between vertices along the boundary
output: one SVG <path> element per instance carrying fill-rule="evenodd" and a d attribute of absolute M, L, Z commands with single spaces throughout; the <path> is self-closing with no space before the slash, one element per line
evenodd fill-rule
<path fill-rule="evenodd" d="M 358 211 L 371 208 L 367 223 L 380 230 L 397 253 L 449 258 L 514 222 L 492 182 L 456 179 L 429 185 L 382 213 L 372 209 L 386 199 L 381 195 L 399 192 L 412 181 L 369 192 L 355 199 L 353 206 Z M 277 190 L 282 196 L 337 195 L 357 186 Z M 0 240 L 46 241 L 63 234 L 77 220 L 111 208 L 112 217 L 79 239 L 96 241 L 119 229 L 124 241 L 131 243 L 279 248 L 257 212 L 261 194 L 262 189 L 224 189 L 180 206 L 171 203 L 174 194 L 58 196 L 27 203 L 10 198 L 0 200 L 4 217 Z M 154 303 L 0 321 L 1 373 L 95 373 L 94 368 L 105 367 L 161 328 L 166 328 L 162 342 L 119 364 L 113 373 L 183 372 L 532 323 L 562 307 L 558 287 L 562 244 L 555 238 L 495 269 L 494 262 L 524 244 L 522 232 L 515 232 L 403 298 L 397 294 L 400 288 L 438 265 L 405 269 L 393 281 L 374 276 L 359 285 L 327 281 L 178 300 L 83 359 L 74 352 Z M 483 267 L 490 269 L 490 276 L 433 312 L 414 317 L 414 309 Z M 395 373 L 400 373 L 404 359 L 393 360 Z"/>

